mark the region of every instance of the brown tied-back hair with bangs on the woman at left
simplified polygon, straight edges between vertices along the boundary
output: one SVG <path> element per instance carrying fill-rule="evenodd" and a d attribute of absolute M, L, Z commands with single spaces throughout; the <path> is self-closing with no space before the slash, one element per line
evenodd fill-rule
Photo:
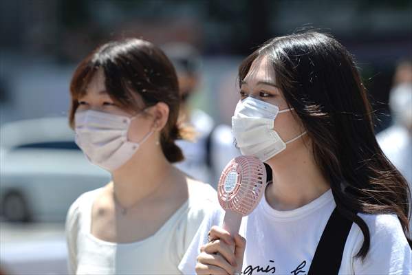
<path fill-rule="evenodd" d="M 142 39 L 122 39 L 100 45 L 80 62 L 70 83 L 72 102 L 69 124 L 74 128 L 78 99 L 85 96 L 94 74 L 102 69 L 107 94 L 125 111 L 137 113 L 136 96 L 151 107 L 158 102 L 169 106 L 169 118 L 160 134 L 160 144 L 169 162 L 184 159 L 175 140 L 191 139 L 191 129 L 177 123 L 180 108 L 177 76 L 169 58 L 158 47 Z"/>

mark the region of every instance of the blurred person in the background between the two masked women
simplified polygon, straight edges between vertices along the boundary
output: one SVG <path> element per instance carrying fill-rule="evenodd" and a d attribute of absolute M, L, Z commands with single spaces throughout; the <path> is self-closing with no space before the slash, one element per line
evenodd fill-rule
<path fill-rule="evenodd" d="M 176 68 L 180 88 L 180 121 L 193 127 L 195 141 L 177 140 L 185 159 L 175 164 L 188 175 L 217 186 L 221 171 L 239 155 L 233 144 L 230 126 L 215 124 L 213 118 L 201 109 L 190 107 L 192 96 L 197 93 L 202 78 L 202 58 L 193 45 L 173 42 L 162 45 Z"/>

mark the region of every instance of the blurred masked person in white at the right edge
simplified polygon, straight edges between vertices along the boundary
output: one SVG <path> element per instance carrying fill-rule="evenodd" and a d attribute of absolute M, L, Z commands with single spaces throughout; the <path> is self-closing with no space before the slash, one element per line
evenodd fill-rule
<path fill-rule="evenodd" d="M 412 188 L 412 61 L 401 62 L 395 70 L 389 108 L 393 125 L 378 133 L 377 139 L 384 154 Z"/>

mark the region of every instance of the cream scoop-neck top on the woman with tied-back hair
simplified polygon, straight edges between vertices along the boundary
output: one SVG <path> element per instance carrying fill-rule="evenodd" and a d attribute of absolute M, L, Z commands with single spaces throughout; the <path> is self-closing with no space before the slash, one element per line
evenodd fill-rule
<path fill-rule="evenodd" d="M 67 214 L 69 274 L 180 274 L 177 265 L 206 209 L 217 203 L 211 186 L 189 184 L 188 201 L 155 234 L 133 243 L 102 241 L 90 233 L 91 208 L 102 188 L 85 192 Z"/>

